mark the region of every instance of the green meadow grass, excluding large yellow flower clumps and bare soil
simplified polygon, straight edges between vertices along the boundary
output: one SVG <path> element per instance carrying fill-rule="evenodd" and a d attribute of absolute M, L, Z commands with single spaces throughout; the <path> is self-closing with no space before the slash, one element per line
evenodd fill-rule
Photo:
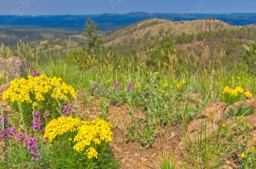
<path fill-rule="evenodd" d="M 84 57 L 84 61 L 80 62 L 84 62 L 83 65 L 85 66 L 84 69 L 81 69 L 78 66 L 80 64 L 75 65 L 72 60 L 67 60 L 66 51 L 41 50 L 35 53 L 26 44 L 20 42 L 19 45 L 21 48 L 23 47 L 19 51 L 20 57 L 29 60 L 35 71 L 40 71 L 41 74 L 46 74 L 48 77 L 60 77 L 63 82 L 71 85 L 77 92 L 82 91 L 81 104 L 92 108 L 99 100 L 98 107 L 100 107 L 102 114 L 99 114 L 97 110 L 97 117 L 106 120 L 112 105 L 126 106 L 129 109 L 129 115 L 127 116 L 131 117 L 132 123 L 130 125 L 124 124 L 119 118 L 122 126 L 118 126 L 125 140 L 137 140 L 142 146 L 150 148 L 158 137 L 157 133 L 160 129 L 172 128 L 174 125 L 182 124 L 182 140 L 186 153 L 186 164 L 184 165 L 187 165 L 185 168 L 190 165 L 196 168 L 221 168 L 225 164 L 225 157 L 230 155 L 230 150 L 238 148 L 238 139 L 228 135 L 229 132 L 224 131 L 223 126 L 219 126 L 218 130 L 210 134 L 206 134 L 209 133 L 208 128 L 198 126 L 204 132 L 191 136 L 187 134 L 187 124 L 210 102 L 222 101 L 222 91 L 225 86 L 240 86 L 244 90 L 249 90 L 253 97 L 255 96 L 255 75 L 240 69 L 246 67 L 242 61 L 240 61 L 239 67 L 239 65 L 227 66 L 224 64 L 225 61 L 222 60 L 221 64 L 203 70 L 200 63 L 187 68 L 188 60 L 177 62 L 176 65 L 159 61 L 158 65 L 146 66 L 144 53 L 141 53 L 139 59 L 135 60 L 134 58 L 125 58 L 120 55 L 115 56 L 111 53 L 105 54 L 102 52 L 95 56 Z M 97 67 L 98 71 L 88 71 L 92 67 Z M 8 81 L 7 79 L 6 74 L 2 73 L 0 82 L 4 83 Z M 116 82 L 119 84 L 118 87 Z M 131 85 L 132 88 L 128 89 L 127 85 Z M 192 98 L 188 94 L 193 92 L 202 94 L 202 99 Z M 241 97 L 241 99 L 246 98 Z M 143 115 L 142 121 L 135 116 L 135 109 L 139 109 L 140 114 Z M 56 111 L 62 114 L 61 110 L 61 108 L 58 108 Z M 44 114 L 45 112 L 41 113 Z M 90 115 L 90 110 L 88 113 Z M 254 107 L 240 105 L 230 109 L 228 116 L 249 116 L 254 113 Z M 79 116 L 79 118 L 81 117 Z M 18 123 L 18 120 L 23 119 L 23 117 L 11 117 L 9 119 Z M 20 127 L 20 131 L 31 128 L 29 121 L 16 124 L 16 126 Z M 33 133 L 32 130 L 28 130 L 28 132 Z M 238 134 L 243 136 L 245 133 Z M 74 145 L 61 139 L 51 146 L 46 146 L 42 142 L 40 144 L 43 154 L 41 156 L 42 160 L 37 163 L 30 160 L 31 154 L 27 152 L 26 148 L 11 145 L 9 154 L 11 162 L 8 167 L 120 167 L 120 161 L 114 158 L 108 144 L 102 147 L 103 151 L 99 158 L 92 160 L 88 160 L 86 155 L 74 151 Z M 247 142 L 243 142 L 239 146 L 244 148 L 240 150 L 239 153 L 241 154 L 241 151 L 246 150 Z M 241 162 L 241 158 L 238 158 Z M 175 168 L 177 165 L 175 157 L 169 160 L 164 152 L 163 158 L 158 160 L 159 168 Z M 0 166 L 3 167 L 4 164 L 0 163 Z"/>

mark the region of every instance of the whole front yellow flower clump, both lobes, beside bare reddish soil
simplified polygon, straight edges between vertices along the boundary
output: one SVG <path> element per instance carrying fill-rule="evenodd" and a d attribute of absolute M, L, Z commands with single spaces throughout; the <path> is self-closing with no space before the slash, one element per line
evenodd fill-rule
<path fill-rule="evenodd" d="M 83 151 L 85 148 L 90 146 L 86 150 L 88 158 L 93 157 L 98 158 L 97 151 L 91 147 L 92 145 L 98 145 L 102 141 L 111 142 L 113 132 L 111 131 L 112 125 L 108 122 L 105 122 L 102 119 L 96 118 L 91 122 L 80 121 L 77 118 L 73 119 L 72 117 L 59 117 L 57 120 L 54 119 L 47 124 L 45 129 L 45 138 L 49 138 L 50 142 L 57 135 L 64 134 L 66 132 L 78 131 L 74 137 L 74 142 L 77 142 L 73 147 L 77 152 Z M 72 138 L 69 138 L 71 141 Z"/>

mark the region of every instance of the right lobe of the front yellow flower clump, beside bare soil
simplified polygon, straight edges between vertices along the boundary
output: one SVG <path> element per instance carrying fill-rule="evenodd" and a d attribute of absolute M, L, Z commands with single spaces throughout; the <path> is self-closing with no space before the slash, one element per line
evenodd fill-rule
<path fill-rule="evenodd" d="M 111 142 L 113 134 L 111 131 L 112 125 L 102 119 L 96 118 L 91 122 L 82 122 L 77 135 L 74 137 L 74 142 L 78 142 L 74 149 L 83 151 L 85 146 L 90 146 L 91 143 L 100 144 L 101 141 Z"/>

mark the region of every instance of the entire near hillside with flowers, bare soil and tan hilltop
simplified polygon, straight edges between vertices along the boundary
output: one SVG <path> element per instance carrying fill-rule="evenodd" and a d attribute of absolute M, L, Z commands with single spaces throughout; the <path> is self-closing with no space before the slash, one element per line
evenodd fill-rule
<path fill-rule="evenodd" d="M 255 35 L 152 19 L 97 51 L 72 37 L 2 43 L 34 70 L 1 70 L 1 168 L 255 168 Z"/>

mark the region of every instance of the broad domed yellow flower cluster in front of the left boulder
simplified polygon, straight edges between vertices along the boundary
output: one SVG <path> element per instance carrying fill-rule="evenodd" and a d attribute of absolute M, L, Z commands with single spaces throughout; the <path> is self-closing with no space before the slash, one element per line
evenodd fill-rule
<path fill-rule="evenodd" d="M 28 79 L 20 78 L 11 81 L 10 88 L 3 93 L 3 101 L 15 102 L 27 101 L 36 106 L 35 101 L 45 100 L 44 95 L 48 92 L 51 93 L 52 98 L 69 99 L 75 98 L 77 94 L 74 88 L 68 86 L 65 82 L 61 83 L 61 78 L 47 77 L 42 74 L 40 76 L 28 76 Z"/>

